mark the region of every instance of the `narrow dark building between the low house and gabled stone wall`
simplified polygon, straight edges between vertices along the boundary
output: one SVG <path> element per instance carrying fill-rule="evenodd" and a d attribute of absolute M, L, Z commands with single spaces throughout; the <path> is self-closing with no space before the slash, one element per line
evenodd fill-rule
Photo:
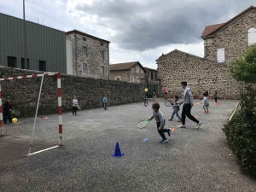
<path fill-rule="evenodd" d="M 159 95 L 159 79 L 158 79 L 158 72 L 156 69 L 144 67 L 147 71 L 145 73 L 145 87 L 148 88 L 149 97 L 153 95 L 153 92 L 156 95 Z"/>

